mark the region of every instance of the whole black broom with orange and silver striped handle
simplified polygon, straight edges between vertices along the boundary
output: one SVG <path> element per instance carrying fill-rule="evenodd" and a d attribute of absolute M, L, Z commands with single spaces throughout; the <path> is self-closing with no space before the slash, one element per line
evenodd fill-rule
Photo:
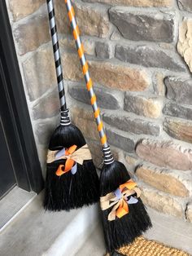
<path fill-rule="evenodd" d="M 133 242 L 137 236 L 141 236 L 142 232 L 151 227 L 151 219 L 139 198 L 140 190 L 136 183 L 130 179 L 128 170 L 126 170 L 124 164 L 120 161 L 114 161 L 111 156 L 93 84 L 89 76 L 88 63 L 85 59 L 72 2 L 71 0 L 65 0 L 65 3 L 103 146 L 104 165 L 100 177 L 100 202 L 107 251 L 112 253 L 121 246 Z"/>

